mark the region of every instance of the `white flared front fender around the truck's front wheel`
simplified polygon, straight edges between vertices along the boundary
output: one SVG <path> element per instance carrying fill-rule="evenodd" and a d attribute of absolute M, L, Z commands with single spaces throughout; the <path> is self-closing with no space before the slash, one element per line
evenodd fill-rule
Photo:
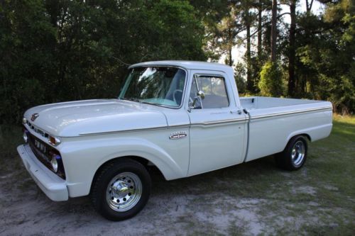
<path fill-rule="evenodd" d="M 143 157 L 155 164 L 165 179 L 186 176 L 182 168 L 161 147 L 139 137 L 107 137 L 63 142 L 60 148 L 70 197 L 89 194 L 92 180 L 102 164 L 117 157 Z"/>

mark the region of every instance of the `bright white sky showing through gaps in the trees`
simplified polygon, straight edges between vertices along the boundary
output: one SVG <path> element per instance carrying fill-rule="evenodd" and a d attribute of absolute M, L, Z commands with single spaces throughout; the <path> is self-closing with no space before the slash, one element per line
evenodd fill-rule
<path fill-rule="evenodd" d="M 309 0 L 309 2 L 310 1 L 311 0 Z M 297 12 L 305 12 L 306 11 L 306 0 L 300 0 L 297 2 L 296 11 Z M 324 11 L 324 5 L 320 4 L 319 1 L 314 0 L 313 5 L 312 5 L 312 12 L 315 15 L 319 15 L 323 11 Z M 285 12 L 290 12 L 290 6 L 281 5 L 281 11 L 279 12 L 279 14 L 282 14 Z M 290 15 L 285 14 L 283 16 L 283 21 L 285 21 L 286 23 L 290 23 Z M 251 33 L 253 33 L 253 30 L 251 30 Z M 245 32 L 241 33 L 240 36 L 245 38 L 246 33 Z M 233 56 L 234 64 L 236 64 L 236 62 L 242 61 L 242 57 L 244 56 L 245 52 L 246 52 L 246 48 L 244 47 L 244 45 L 235 46 L 232 49 L 231 53 Z M 219 59 L 219 63 L 224 63 L 225 58 L 226 58 L 226 55 L 222 55 L 222 57 Z"/>

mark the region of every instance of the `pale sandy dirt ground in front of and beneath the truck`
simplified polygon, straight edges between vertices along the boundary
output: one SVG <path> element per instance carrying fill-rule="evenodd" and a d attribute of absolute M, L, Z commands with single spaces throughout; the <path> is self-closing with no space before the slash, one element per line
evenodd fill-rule
<path fill-rule="evenodd" d="M 16 161 L 17 162 L 17 161 Z M 259 163 L 260 164 L 260 163 Z M 256 162 L 256 168 L 258 162 Z M 227 169 L 229 173 L 240 167 Z M 269 172 L 273 172 L 270 169 Z M 322 219 L 327 209 L 320 208 L 317 199 L 308 203 L 280 201 L 278 185 L 270 184 L 265 197 L 259 192 L 243 196 L 245 185 L 224 191 L 223 183 L 233 174 L 222 171 L 176 181 L 165 181 L 152 171 L 153 193 L 146 208 L 136 217 L 122 222 L 110 222 L 98 215 L 89 198 L 72 198 L 67 202 L 50 201 L 23 169 L 0 176 L 1 235 L 274 235 L 302 230 L 305 225 L 331 225 L 336 219 Z M 280 174 L 282 176 L 283 174 Z M 202 181 L 203 179 L 203 181 Z M 192 183 L 202 186 L 193 187 Z M 206 185 L 203 186 L 203 183 Z M 285 181 L 287 186 L 288 181 Z M 207 185 L 222 186 L 211 189 Z M 227 184 L 226 186 L 231 186 Z M 274 192 L 275 194 L 271 194 Z M 292 194 L 315 196 L 312 186 L 291 188 Z M 305 208 L 298 211 L 297 208 Z M 340 210 L 344 213 L 344 209 Z M 338 226 L 337 226 L 338 225 Z"/>

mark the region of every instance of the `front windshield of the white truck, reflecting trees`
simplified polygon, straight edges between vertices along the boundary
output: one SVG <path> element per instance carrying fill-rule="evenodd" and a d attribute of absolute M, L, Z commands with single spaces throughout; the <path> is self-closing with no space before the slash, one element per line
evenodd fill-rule
<path fill-rule="evenodd" d="M 135 67 L 129 71 L 119 99 L 178 107 L 186 73 L 175 67 Z"/>

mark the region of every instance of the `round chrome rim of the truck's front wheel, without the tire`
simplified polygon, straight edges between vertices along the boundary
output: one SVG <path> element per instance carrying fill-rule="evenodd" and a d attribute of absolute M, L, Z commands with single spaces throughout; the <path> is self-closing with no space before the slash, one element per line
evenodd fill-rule
<path fill-rule="evenodd" d="M 112 210 L 124 212 L 136 206 L 141 195 L 141 179 L 132 172 L 123 172 L 109 182 L 106 201 Z"/>

